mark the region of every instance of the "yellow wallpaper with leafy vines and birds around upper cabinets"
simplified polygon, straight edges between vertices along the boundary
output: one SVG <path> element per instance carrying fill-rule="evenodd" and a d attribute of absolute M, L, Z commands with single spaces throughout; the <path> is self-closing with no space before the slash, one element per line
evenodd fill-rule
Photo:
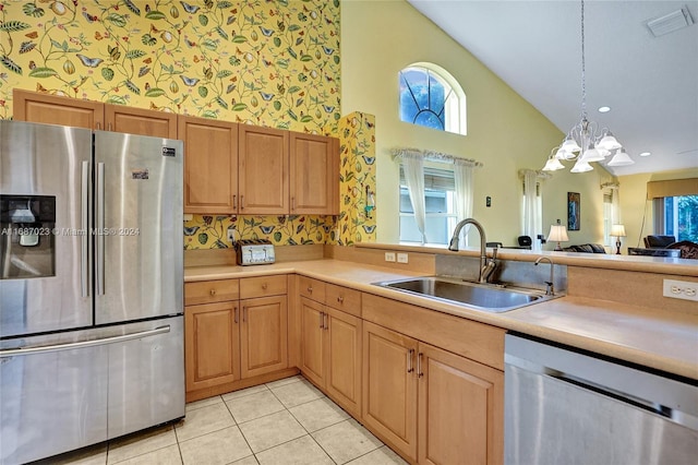
<path fill-rule="evenodd" d="M 375 240 L 359 205 L 371 129 L 340 116 L 339 26 L 339 0 L 0 0 L 0 118 L 19 87 L 339 136 L 338 218 L 194 215 L 184 248 L 229 247 L 228 228 L 276 245 Z"/>

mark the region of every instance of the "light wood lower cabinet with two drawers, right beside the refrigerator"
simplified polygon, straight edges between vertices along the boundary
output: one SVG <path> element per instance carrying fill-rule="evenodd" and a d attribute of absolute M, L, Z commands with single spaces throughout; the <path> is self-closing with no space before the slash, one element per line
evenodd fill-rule
<path fill-rule="evenodd" d="M 286 283 L 273 275 L 184 284 L 188 401 L 298 373 L 287 370 Z"/>

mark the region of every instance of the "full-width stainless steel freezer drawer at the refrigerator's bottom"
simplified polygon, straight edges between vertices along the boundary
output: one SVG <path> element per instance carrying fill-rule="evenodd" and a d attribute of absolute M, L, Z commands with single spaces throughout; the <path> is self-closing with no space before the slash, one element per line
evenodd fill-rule
<path fill-rule="evenodd" d="M 183 317 L 0 342 L 0 465 L 184 416 Z"/>

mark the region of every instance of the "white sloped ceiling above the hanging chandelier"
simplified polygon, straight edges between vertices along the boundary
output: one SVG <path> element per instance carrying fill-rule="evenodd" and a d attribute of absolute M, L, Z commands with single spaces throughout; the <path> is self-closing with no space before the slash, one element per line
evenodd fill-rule
<path fill-rule="evenodd" d="M 579 121 L 580 1 L 408 2 L 562 132 Z M 647 21 L 682 7 L 694 24 L 653 37 Z M 698 0 L 587 0 L 585 36 L 589 119 L 611 129 L 636 162 L 607 169 L 622 176 L 697 168 Z M 603 105 L 611 111 L 600 114 Z"/>

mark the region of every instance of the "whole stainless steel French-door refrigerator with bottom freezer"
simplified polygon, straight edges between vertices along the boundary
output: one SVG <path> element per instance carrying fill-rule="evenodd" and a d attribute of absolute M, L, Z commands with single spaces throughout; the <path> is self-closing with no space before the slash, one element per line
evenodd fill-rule
<path fill-rule="evenodd" d="M 184 416 L 181 141 L 0 121 L 0 463 Z"/>

